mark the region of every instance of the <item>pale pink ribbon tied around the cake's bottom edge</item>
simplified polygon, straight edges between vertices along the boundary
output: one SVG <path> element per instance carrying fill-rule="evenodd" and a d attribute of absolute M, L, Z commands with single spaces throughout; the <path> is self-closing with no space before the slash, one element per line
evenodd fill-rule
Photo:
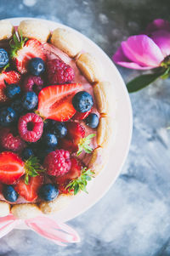
<path fill-rule="evenodd" d="M 77 231 L 73 230 L 69 225 L 56 222 L 54 219 L 44 216 L 34 219 L 16 219 L 12 214 L 0 218 L 0 238 L 7 235 L 14 228 L 17 228 L 18 225 L 23 224 L 37 232 L 40 236 L 60 246 L 66 246 L 67 243 L 71 242 L 80 242 L 80 236 L 77 234 Z"/>

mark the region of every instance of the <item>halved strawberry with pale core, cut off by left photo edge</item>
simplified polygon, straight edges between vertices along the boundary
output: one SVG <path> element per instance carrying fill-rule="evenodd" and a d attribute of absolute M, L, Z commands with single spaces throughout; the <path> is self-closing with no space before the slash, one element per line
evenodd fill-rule
<path fill-rule="evenodd" d="M 14 182 L 25 174 L 25 164 L 20 157 L 10 151 L 0 154 L 0 182 L 14 184 Z"/>

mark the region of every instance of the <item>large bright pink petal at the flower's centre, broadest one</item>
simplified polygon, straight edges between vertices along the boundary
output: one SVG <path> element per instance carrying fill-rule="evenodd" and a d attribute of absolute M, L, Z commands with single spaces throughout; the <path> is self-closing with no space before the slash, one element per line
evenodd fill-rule
<path fill-rule="evenodd" d="M 129 60 L 152 68 L 159 66 L 164 59 L 160 48 L 146 35 L 128 37 L 122 42 L 122 51 Z"/>

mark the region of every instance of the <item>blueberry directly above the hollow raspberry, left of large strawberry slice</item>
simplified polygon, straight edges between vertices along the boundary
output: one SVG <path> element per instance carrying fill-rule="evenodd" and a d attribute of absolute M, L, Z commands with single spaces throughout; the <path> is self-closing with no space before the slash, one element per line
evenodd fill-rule
<path fill-rule="evenodd" d="M 22 106 L 31 111 L 37 106 L 37 94 L 34 92 L 26 92 L 22 96 Z"/>

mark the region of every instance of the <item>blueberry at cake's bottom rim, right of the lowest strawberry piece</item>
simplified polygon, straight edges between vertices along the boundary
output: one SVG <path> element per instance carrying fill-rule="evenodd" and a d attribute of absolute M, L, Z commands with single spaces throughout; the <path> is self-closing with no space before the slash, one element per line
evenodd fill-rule
<path fill-rule="evenodd" d="M 53 201 L 57 196 L 59 196 L 59 191 L 55 185 L 45 184 L 42 185 L 38 194 L 44 201 Z"/>

